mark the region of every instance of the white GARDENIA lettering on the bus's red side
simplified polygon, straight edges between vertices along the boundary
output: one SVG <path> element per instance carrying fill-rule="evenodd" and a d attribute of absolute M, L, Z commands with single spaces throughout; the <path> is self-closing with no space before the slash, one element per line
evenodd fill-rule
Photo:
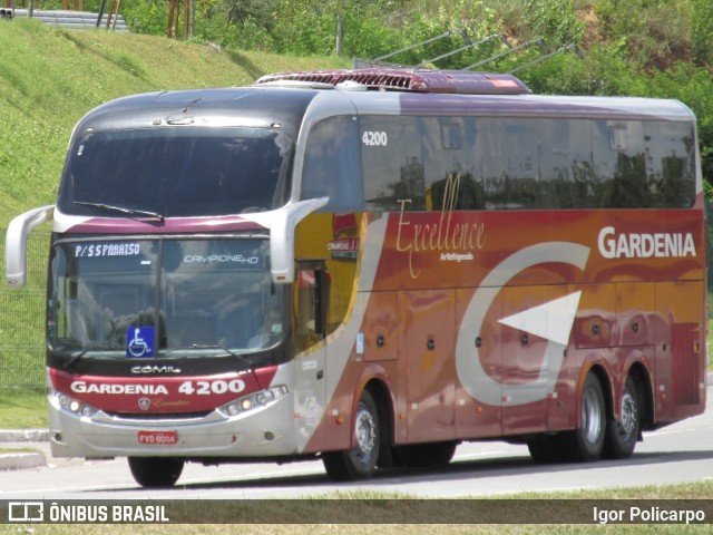
<path fill-rule="evenodd" d="M 651 259 L 695 256 L 688 233 L 617 234 L 613 226 L 599 231 L 599 254 L 605 259 Z"/>

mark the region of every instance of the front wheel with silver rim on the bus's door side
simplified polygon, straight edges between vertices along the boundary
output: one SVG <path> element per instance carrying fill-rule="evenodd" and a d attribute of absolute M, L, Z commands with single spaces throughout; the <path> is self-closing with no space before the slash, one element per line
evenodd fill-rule
<path fill-rule="evenodd" d="M 330 451 L 322 456 L 326 475 L 335 481 L 368 479 L 379 459 L 381 431 L 379 411 L 371 393 L 364 390 L 354 415 L 354 449 Z"/>

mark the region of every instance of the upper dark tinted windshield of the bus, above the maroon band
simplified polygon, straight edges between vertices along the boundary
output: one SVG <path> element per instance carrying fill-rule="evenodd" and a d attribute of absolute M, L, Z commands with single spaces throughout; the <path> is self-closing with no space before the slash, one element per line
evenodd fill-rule
<path fill-rule="evenodd" d="M 290 193 L 292 139 L 266 128 L 87 132 L 69 148 L 58 207 L 95 217 L 274 210 Z"/>

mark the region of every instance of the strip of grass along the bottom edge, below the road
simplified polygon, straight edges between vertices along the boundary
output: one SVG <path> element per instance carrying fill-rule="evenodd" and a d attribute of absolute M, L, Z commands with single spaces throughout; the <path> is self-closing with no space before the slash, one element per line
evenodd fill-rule
<path fill-rule="evenodd" d="M 701 489 L 707 492 L 707 495 L 702 494 L 697 488 L 694 488 L 692 493 L 688 492 L 687 485 L 676 485 L 671 487 L 656 487 L 654 496 L 658 499 L 672 499 L 676 497 L 683 497 L 687 499 L 697 499 L 700 496 L 710 496 L 712 486 Z M 700 485 L 693 485 L 692 487 L 700 487 Z M 403 494 L 381 493 L 381 492 L 356 492 L 356 493 L 333 493 L 316 499 L 305 500 L 283 500 L 277 508 L 275 508 L 274 502 L 261 502 L 261 500 L 234 500 L 229 503 L 219 502 L 206 502 L 202 505 L 202 510 L 196 515 L 195 503 L 191 500 L 174 503 L 168 506 L 170 512 L 169 518 L 174 522 L 183 522 L 185 518 L 205 518 L 209 517 L 214 522 L 225 522 L 226 524 L 213 524 L 213 525 L 189 525 L 182 524 L 180 533 L 206 533 L 217 534 L 225 533 L 225 531 L 236 532 L 241 534 L 382 534 L 382 535 L 401 535 L 404 532 L 409 534 L 430 534 L 430 533 L 447 533 L 447 534 L 470 534 L 470 533 L 507 533 L 507 534 L 520 534 L 520 533 L 554 533 L 554 534 L 580 534 L 580 533 L 602 533 L 602 529 L 609 529 L 613 533 L 626 533 L 626 534 L 643 534 L 643 533 L 707 533 L 710 525 L 697 526 L 682 526 L 682 525 L 598 525 L 594 524 L 593 518 L 588 516 L 589 507 L 597 506 L 597 503 L 603 504 L 603 507 L 607 505 L 612 506 L 612 499 L 642 499 L 651 497 L 646 493 L 646 488 L 643 489 L 627 489 L 617 490 L 615 493 L 607 493 L 603 495 L 602 492 L 597 493 L 576 493 L 575 496 L 572 493 L 548 493 L 536 495 L 514 495 L 507 498 L 492 499 L 477 499 L 471 502 L 467 497 L 462 499 L 449 499 L 438 502 L 423 502 L 411 500 L 413 496 Z M 587 500 L 583 503 L 568 503 L 563 504 L 558 502 L 560 499 L 582 499 Z M 556 524 L 557 516 L 553 514 L 553 524 L 538 525 L 538 524 L 477 524 L 478 518 L 482 518 L 484 515 L 488 515 L 490 507 L 498 507 L 501 512 L 501 507 L 509 507 L 508 504 L 504 504 L 502 499 L 510 503 L 512 507 L 512 516 L 517 518 L 518 515 L 528 515 L 529 518 L 535 516 L 543 517 L 546 522 L 549 522 L 548 510 L 561 510 L 564 506 L 567 510 L 576 509 L 577 513 L 565 514 L 565 518 L 577 518 L 578 524 Z M 526 500 L 539 500 L 539 502 L 526 502 Z M 398 500 L 394 504 L 394 500 Z M 489 505 L 490 504 L 490 505 Z M 617 503 L 617 507 L 623 504 Z M 643 506 L 643 504 L 637 504 Z M 437 508 L 441 508 L 438 510 Z M 672 506 L 673 507 L 673 506 Z M 433 512 L 429 510 L 434 508 Z M 446 508 L 447 513 L 442 508 Z M 587 516 L 582 517 L 585 513 Z M 407 517 L 403 524 L 397 524 L 393 522 L 394 517 L 400 515 L 413 515 L 410 518 Z M 427 518 L 433 518 L 432 522 L 442 522 L 443 516 L 448 514 L 449 518 L 461 522 L 460 524 L 455 522 L 452 524 L 410 524 L 413 518 L 420 518 L 426 516 Z M 535 515 L 535 516 L 531 516 Z M 511 517 L 508 517 L 511 518 Z M 257 519 L 263 518 L 271 524 L 251 524 Z M 277 524 L 279 518 L 284 518 L 285 522 Z M 320 521 L 318 521 L 320 518 Z M 303 522 L 321 522 L 319 524 L 303 524 Z M 189 521 L 186 521 L 189 522 Z M 353 524 L 353 522 L 369 522 L 370 524 Z M 535 521 L 533 521 L 535 522 Z M 234 525 L 228 525 L 235 523 Z M 587 524 L 590 523 L 590 524 Z M 6 529 L 3 529 L 6 527 Z M 19 529 L 22 526 L 14 526 L 17 531 L 7 529 L 7 526 L 0 526 L 0 534 L 2 533 L 21 533 Z M 153 534 L 169 534 L 174 533 L 177 528 L 176 525 L 150 525 L 150 526 L 121 526 L 121 525 L 91 525 L 91 526 L 61 526 L 61 525 L 42 525 L 37 526 L 41 529 L 41 533 L 47 534 L 75 534 L 75 533 L 92 533 L 92 534 L 108 534 L 108 533 L 124 533 L 130 528 L 130 533 L 153 533 Z M 595 532 L 596 531 L 596 532 Z M 127 532 L 129 533 L 129 532 Z"/>

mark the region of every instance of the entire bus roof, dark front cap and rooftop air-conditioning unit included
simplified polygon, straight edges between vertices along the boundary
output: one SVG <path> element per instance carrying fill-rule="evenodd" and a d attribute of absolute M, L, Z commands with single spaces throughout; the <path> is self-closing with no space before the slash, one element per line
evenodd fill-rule
<path fill-rule="evenodd" d="M 382 90 L 370 90 L 377 88 Z M 281 125 L 284 132 L 296 137 L 304 114 L 316 101 L 322 103 L 318 107 L 331 103 L 326 108 L 335 114 L 356 111 L 694 120 L 693 113 L 677 100 L 533 95 L 510 75 L 353 69 L 266 75 L 250 87 L 159 91 L 124 97 L 89 111 L 77 126 L 81 132 L 87 128 L 123 129 L 187 124 Z"/>

